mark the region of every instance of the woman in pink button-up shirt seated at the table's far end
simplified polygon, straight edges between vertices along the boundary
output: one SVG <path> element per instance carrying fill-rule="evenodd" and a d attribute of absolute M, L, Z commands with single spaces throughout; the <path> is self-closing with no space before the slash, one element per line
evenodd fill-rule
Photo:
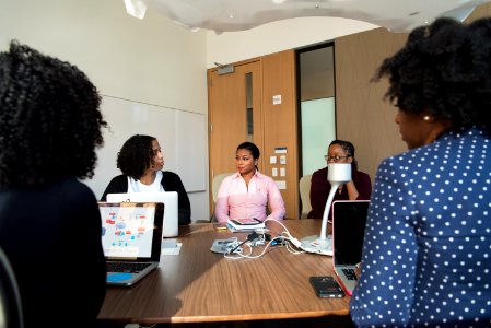
<path fill-rule="evenodd" d="M 285 210 L 280 189 L 272 178 L 257 169 L 259 149 L 243 142 L 235 153 L 237 173 L 220 185 L 214 215 L 219 222 L 229 219 L 283 220 Z M 267 214 L 267 208 L 271 213 Z"/>

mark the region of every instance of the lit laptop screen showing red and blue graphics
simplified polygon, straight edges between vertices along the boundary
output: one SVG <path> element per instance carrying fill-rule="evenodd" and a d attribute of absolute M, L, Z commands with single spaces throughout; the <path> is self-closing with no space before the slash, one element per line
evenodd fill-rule
<path fill-rule="evenodd" d="M 100 202 L 102 244 L 106 258 L 151 259 L 160 249 L 162 203 Z"/>

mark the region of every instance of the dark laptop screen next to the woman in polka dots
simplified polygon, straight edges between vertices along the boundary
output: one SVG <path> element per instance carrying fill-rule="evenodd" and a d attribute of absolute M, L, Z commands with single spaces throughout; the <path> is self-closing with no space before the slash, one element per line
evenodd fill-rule
<path fill-rule="evenodd" d="M 362 258 L 370 201 L 335 201 L 332 237 L 335 265 L 356 265 Z"/>

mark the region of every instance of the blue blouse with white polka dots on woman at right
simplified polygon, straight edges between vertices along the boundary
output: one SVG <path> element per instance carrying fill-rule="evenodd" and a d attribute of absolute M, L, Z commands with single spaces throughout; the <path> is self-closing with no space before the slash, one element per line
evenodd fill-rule
<path fill-rule="evenodd" d="M 477 128 L 386 159 L 351 298 L 360 327 L 491 327 L 491 140 Z"/>

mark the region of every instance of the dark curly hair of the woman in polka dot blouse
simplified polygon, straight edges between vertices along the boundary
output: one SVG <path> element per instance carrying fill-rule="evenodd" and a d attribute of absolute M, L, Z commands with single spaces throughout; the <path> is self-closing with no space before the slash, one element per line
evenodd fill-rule
<path fill-rule="evenodd" d="M 491 28 L 437 19 L 414 28 L 402 49 L 385 59 L 374 80 L 388 77 L 385 98 L 400 110 L 448 119 L 452 128 L 491 132 Z"/>

